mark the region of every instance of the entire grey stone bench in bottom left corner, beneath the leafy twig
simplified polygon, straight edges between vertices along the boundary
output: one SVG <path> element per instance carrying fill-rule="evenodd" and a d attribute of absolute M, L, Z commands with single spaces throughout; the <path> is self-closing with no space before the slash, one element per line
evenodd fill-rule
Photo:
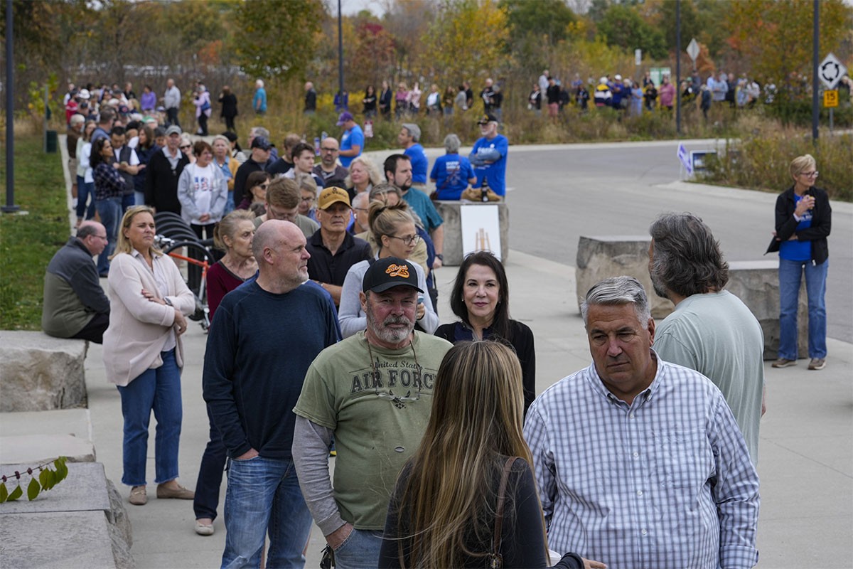
<path fill-rule="evenodd" d="M 7 476 L 38 463 L 0 466 Z M 131 569 L 131 521 L 98 462 L 68 463 L 68 476 L 35 500 L 0 504 L 0 566 Z M 6 483 L 7 487 L 14 487 Z"/>

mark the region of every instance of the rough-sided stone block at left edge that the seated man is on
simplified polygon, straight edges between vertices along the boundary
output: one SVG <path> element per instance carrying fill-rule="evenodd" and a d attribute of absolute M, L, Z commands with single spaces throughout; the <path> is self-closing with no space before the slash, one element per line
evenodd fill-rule
<path fill-rule="evenodd" d="M 43 332 L 0 331 L 0 411 L 84 407 L 87 342 Z"/>

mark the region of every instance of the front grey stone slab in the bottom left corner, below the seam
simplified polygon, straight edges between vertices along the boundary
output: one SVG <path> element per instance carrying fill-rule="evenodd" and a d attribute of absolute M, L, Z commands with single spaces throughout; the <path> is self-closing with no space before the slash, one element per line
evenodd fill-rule
<path fill-rule="evenodd" d="M 58 488 L 59 486 L 57 486 Z M 0 511 L 8 504 L 0 504 Z M 0 567 L 114 569 L 103 512 L 38 512 L 0 517 Z"/>

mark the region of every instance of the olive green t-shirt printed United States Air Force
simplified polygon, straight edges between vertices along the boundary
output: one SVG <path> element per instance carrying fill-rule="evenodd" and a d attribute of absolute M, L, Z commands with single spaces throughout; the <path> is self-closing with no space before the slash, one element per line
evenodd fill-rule
<path fill-rule="evenodd" d="M 438 365 L 450 347 L 415 332 L 404 348 L 368 351 L 359 332 L 311 363 L 293 411 L 334 430 L 334 499 L 357 529 L 385 527 L 397 474 L 421 444 Z"/>

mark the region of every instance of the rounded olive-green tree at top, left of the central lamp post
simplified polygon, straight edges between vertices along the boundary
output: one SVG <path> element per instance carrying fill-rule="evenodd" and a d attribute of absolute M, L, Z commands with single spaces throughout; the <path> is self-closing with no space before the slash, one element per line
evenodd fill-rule
<path fill-rule="evenodd" d="M 321 0 L 247 0 L 235 10 L 236 61 L 255 77 L 299 77 L 326 17 Z"/>

